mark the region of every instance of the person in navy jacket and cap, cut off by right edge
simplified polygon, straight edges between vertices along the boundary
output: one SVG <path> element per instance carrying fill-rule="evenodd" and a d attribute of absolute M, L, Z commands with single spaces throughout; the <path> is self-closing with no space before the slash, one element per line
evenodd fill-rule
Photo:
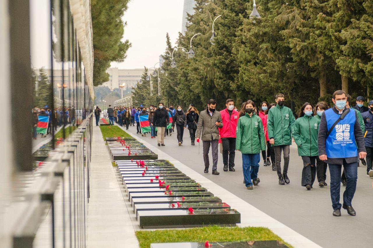
<path fill-rule="evenodd" d="M 373 153 L 373 100 L 369 102 L 369 110 L 364 112 L 363 120 L 365 123 L 364 141 L 367 150 L 367 176 L 373 178 L 372 153 Z"/>

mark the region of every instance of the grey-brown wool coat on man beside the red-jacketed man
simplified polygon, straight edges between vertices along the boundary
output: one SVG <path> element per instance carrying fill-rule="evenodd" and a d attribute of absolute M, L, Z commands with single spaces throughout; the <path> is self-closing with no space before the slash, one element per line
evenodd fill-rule
<path fill-rule="evenodd" d="M 219 139 L 219 130 L 215 124 L 217 121 L 220 121 L 220 128 L 223 127 L 222 116 L 219 111 L 214 111 L 212 116 L 209 113 L 209 110 L 206 108 L 204 111 L 200 112 L 200 117 L 197 124 L 197 132 L 195 137 L 197 139 L 201 138 L 204 141 L 218 140 Z"/>

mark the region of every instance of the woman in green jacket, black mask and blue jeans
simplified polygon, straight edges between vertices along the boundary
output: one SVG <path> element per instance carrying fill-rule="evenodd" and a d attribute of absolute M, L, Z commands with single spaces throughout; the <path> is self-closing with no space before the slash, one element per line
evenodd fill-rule
<path fill-rule="evenodd" d="M 245 186 L 253 189 L 258 185 L 260 152 L 266 150 L 263 123 L 254 112 L 255 104 L 248 100 L 242 107 L 245 115 L 238 119 L 236 129 L 236 150 L 242 153 L 242 171 L 244 172 Z M 253 182 L 251 182 L 253 180 Z"/>

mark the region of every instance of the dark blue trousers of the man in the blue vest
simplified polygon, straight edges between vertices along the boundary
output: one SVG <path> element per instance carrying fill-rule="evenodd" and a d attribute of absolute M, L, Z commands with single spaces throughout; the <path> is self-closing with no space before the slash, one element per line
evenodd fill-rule
<path fill-rule="evenodd" d="M 347 206 L 351 206 L 351 201 L 356 191 L 357 162 L 346 163 L 344 160 L 343 167 L 347 178 L 346 190 L 343 193 L 343 203 Z M 341 209 L 342 207 L 341 203 L 339 203 L 341 192 L 341 170 L 342 165 L 334 165 L 329 163 L 330 197 L 332 198 L 332 207 L 334 210 Z"/>

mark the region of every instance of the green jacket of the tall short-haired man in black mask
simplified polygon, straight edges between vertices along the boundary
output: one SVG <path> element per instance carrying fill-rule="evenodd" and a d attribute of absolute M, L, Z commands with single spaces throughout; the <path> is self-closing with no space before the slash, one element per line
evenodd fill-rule
<path fill-rule="evenodd" d="M 291 144 L 291 128 L 295 123 L 293 112 L 288 107 L 276 105 L 269 109 L 267 131 L 269 139 L 275 139 L 273 146 Z"/>

